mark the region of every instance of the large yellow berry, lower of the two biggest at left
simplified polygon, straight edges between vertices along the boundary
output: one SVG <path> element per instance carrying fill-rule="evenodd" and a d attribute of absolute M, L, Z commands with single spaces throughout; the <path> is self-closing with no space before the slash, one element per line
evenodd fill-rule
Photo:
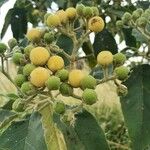
<path fill-rule="evenodd" d="M 43 67 L 37 67 L 30 74 L 30 81 L 36 87 L 45 86 L 45 82 L 49 78 L 50 73 Z"/>

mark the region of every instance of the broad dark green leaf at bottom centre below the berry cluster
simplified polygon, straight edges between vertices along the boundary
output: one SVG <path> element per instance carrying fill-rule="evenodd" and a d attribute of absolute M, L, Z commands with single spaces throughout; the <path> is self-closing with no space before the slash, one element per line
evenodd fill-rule
<path fill-rule="evenodd" d="M 89 112 L 83 111 L 75 117 L 74 127 L 58 122 L 58 119 L 54 118 L 64 134 L 69 150 L 109 150 L 102 129 Z"/>

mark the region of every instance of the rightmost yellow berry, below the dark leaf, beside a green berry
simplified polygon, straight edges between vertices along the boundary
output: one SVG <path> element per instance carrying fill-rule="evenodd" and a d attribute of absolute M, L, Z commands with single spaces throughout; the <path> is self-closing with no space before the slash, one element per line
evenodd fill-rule
<path fill-rule="evenodd" d="M 110 51 L 101 51 L 97 56 L 97 63 L 102 66 L 108 66 L 113 62 L 113 55 Z"/>

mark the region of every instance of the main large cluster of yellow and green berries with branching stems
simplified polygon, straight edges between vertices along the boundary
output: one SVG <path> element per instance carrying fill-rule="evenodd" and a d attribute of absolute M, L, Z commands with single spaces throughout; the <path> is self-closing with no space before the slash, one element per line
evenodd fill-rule
<path fill-rule="evenodd" d="M 97 64 L 104 71 L 102 80 L 95 79 L 74 65 L 77 61 L 78 49 L 89 38 L 87 33 L 100 32 L 104 28 L 104 21 L 98 15 L 99 11 L 96 7 L 79 4 L 76 8 L 69 7 L 65 11 L 59 10 L 55 14 L 46 14 L 44 19 L 48 29 L 32 28 L 29 30 L 26 34 L 29 41 L 26 47 L 19 47 L 15 39 L 8 42 L 10 49 L 13 50 L 12 60 L 18 66 L 14 83 L 23 98 L 44 92 L 51 98 L 55 111 L 63 114 L 65 104 L 56 100 L 57 97 L 54 97 L 53 91 L 59 92 L 58 94 L 63 96 L 75 97 L 81 100 L 82 104 L 92 105 L 98 99 L 95 92 L 98 84 L 110 79 L 124 81 L 128 77 L 129 70 L 123 66 L 126 57 L 122 53 L 112 55 L 110 51 L 101 51 L 98 54 Z M 81 37 L 76 35 L 77 29 L 74 27 L 74 21 L 77 19 L 81 21 L 77 29 L 84 31 Z M 56 28 L 57 30 L 55 30 Z M 57 33 L 65 34 L 73 40 L 71 55 L 55 44 Z M 7 46 L 1 43 L 0 52 L 4 54 L 6 49 Z M 69 59 L 69 67 L 66 66 L 64 58 L 59 55 L 60 51 Z M 110 65 L 115 68 L 111 76 L 107 73 Z M 75 88 L 82 90 L 81 96 L 75 95 Z M 23 101 L 19 98 L 14 102 L 13 108 L 16 111 L 23 111 Z"/>

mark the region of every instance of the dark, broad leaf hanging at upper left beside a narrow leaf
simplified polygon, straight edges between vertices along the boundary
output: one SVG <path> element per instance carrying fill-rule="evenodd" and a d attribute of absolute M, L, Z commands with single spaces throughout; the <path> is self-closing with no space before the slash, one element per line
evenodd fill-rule
<path fill-rule="evenodd" d="M 27 16 L 24 8 L 14 8 L 10 24 L 13 36 L 17 40 L 23 38 L 27 32 Z"/>

